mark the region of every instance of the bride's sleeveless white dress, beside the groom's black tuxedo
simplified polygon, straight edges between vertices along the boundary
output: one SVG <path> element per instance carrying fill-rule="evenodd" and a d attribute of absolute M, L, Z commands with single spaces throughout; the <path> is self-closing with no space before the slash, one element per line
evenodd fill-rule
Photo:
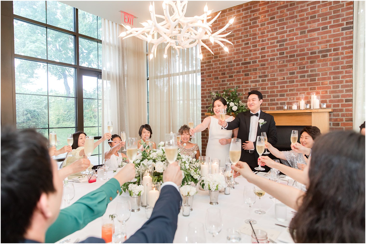
<path fill-rule="evenodd" d="M 221 126 L 219 125 L 219 120 L 211 118 L 208 142 L 206 147 L 206 156 L 211 159 L 220 159 L 220 167 L 225 167 L 225 158 L 229 155 L 230 144 L 221 145 L 219 140 L 223 138 L 231 138 L 232 130 L 221 130 Z M 225 119 L 227 122 L 231 122 L 234 120 L 234 117 L 230 116 Z"/>

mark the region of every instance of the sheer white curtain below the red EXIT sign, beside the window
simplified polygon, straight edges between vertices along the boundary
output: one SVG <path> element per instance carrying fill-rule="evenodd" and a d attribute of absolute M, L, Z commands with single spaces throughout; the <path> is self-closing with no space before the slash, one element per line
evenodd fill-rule
<path fill-rule="evenodd" d="M 147 123 L 146 42 L 118 35 L 124 27 L 102 19 L 102 133 L 126 131 L 138 137 L 139 126 Z M 105 149 L 109 150 L 107 142 Z"/>

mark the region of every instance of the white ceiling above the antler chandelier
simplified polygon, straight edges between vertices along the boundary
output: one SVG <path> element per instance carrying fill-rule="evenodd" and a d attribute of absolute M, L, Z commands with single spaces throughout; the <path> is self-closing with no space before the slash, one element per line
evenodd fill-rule
<path fill-rule="evenodd" d="M 60 1 L 72 7 L 81 9 L 91 14 L 111 20 L 115 23 L 121 23 L 121 13 L 127 12 L 138 17 L 134 20 L 134 27 L 141 27 L 140 22 L 145 22 L 150 18 L 150 1 Z M 151 1 L 152 2 L 152 1 Z M 163 15 L 161 5 L 163 1 L 154 1 L 156 14 Z M 230 8 L 236 5 L 247 3 L 249 1 L 188 1 L 186 17 L 202 15 L 203 7 L 207 3 L 208 8 L 213 12 Z"/>

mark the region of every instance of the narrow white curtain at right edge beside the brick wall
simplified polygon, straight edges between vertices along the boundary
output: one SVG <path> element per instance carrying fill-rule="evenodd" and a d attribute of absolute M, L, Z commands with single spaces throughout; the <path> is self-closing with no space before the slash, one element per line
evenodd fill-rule
<path fill-rule="evenodd" d="M 353 129 L 365 121 L 365 1 L 353 8 Z"/>

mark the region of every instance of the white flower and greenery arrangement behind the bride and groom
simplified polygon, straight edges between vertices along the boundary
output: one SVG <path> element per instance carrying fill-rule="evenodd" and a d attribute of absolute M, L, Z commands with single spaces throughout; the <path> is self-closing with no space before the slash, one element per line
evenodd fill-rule
<path fill-rule="evenodd" d="M 235 115 L 240 112 L 247 111 L 247 104 L 243 103 L 242 94 L 238 93 L 238 87 L 224 89 L 222 93 L 219 92 L 211 92 L 211 98 L 208 99 L 211 103 L 218 96 L 222 96 L 226 99 L 227 102 L 227 114 L 234 113 Z M 207 99 L 206 99 L 207 100 Z M 212 113 L 212 106 L 209 107 L 208 113 Z"/>

